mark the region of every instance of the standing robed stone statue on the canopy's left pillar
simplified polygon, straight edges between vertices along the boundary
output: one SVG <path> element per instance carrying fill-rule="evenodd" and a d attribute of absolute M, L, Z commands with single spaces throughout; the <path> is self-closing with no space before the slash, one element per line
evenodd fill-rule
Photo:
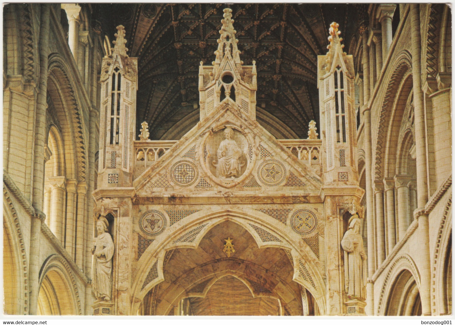
<path fill-rule="evenodd" d="M 112 256 L 114 256 L 114 243 L 107 232 L 109 223 L 105 217 L 100 217 L 96 222 L 98 237 L 91 247 L 95 256 L 92 266 L 92 285 L 96 302 L 110 301 L 112 291 Z"/>

